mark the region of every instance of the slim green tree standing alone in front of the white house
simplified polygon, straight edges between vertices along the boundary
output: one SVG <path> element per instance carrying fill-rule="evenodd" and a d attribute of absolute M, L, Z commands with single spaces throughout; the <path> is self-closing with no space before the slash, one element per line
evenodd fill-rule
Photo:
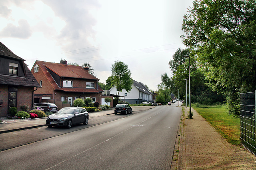
<path fill-rule="evenodd" d="M 119 92 L 123 89 L 129 92 L 132 89 L 133 80 L 128 65 L 122 61 L 115 61 L 111 69 L 113 84 L 116 86 L 116 94 L 119 95 Z"/>

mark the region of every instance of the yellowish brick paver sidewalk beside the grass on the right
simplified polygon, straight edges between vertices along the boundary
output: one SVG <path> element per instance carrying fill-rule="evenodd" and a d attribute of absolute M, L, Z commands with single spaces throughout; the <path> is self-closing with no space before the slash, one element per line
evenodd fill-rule
<path fill-rule="evenodd" d="M 231 145 L 193 108 L 193 119 L 182 118 L 180 170 L 256 170 L 256 157 Z"/>

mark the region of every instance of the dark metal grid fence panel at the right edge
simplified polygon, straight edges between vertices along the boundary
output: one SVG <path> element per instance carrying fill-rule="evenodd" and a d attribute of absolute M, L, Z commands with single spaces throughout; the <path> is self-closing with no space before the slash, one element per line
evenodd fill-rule
<path fill-rule="evenodd" d="M 240 94 L 240 141 L 256 155 L 256 90 Z"/>

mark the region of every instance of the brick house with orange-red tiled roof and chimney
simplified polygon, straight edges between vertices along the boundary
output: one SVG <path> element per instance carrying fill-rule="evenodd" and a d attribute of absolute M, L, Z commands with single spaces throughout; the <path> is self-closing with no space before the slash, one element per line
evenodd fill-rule
<path fill-rule="evenodd" d="M 89 74 L 89 68 L 69 65 L 63 60 L 60 63 L 36 61 L 31 72 L 41 86 L 34 92 L 34 103 L 54 99 L 73 104 L 77 98 L 91 98 L 101 104 L 100 79 Z"/>

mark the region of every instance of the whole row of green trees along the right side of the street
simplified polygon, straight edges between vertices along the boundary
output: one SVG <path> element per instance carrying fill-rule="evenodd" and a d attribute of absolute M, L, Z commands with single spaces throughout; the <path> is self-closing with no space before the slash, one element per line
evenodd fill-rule
<path fill-rule="evenodd" d="M 171 82 L 161 76 L 159 89 L 184 97 L 190 56 L 192 102 L 226 101 L 228 113 L 239 115 L 240 93 L 256 89 L 255 0 L 195 0 L 184 15 L 182 42 L 169 62 Z M 166 77 L 167 76 L 167 77 Z M 223 96 L 222 96 L 223 95 Z"/>

